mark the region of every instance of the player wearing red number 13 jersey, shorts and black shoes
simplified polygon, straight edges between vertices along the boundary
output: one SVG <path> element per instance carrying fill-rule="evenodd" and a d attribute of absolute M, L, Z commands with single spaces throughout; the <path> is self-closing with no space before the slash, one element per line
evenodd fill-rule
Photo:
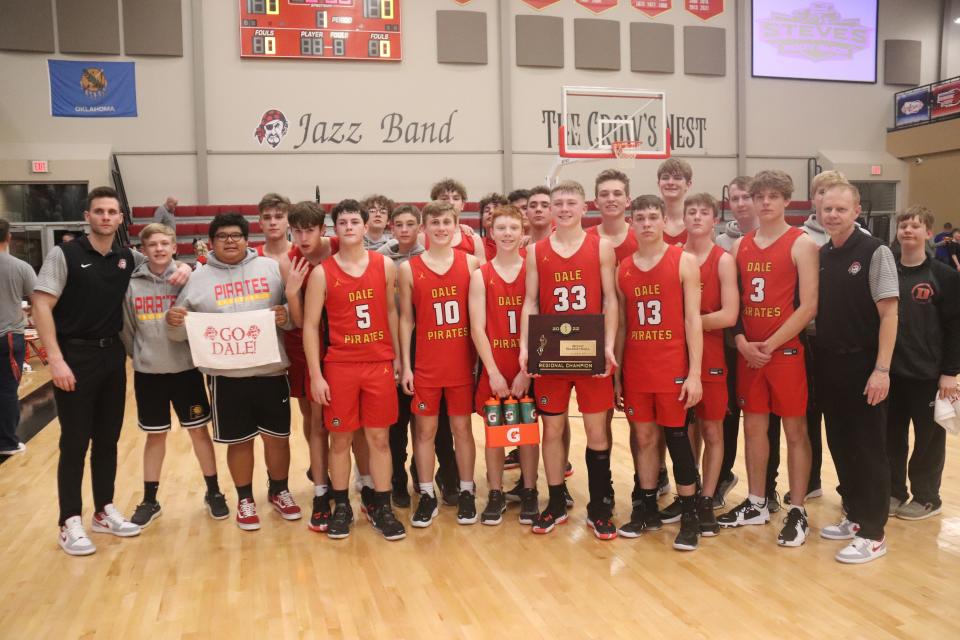
<path fill-rule="evenodd" d="M 700 274 L 693 255 L 663 240 L 664 206 L 656 196 L 641 196 L 631 211 L 637 250 L 617 269 L 620 325 L 614 374 L 615 397 L 637 440 L 634 458 L 640 496 L 630 522 L 620 529 L 635 538 L 660 528 L 657 476 L 659 434 L 663 432 L 680 494 L 680 533 L 675 549 L 697 548 L 697 469 L 687 433 L 687 410 L 700 401 L 703 331 Z"/>

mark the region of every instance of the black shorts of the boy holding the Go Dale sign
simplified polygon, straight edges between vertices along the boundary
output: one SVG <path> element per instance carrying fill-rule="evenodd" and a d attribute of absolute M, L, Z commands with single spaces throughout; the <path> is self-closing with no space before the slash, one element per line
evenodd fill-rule
<path fill-rule="evenodd" d="M 282 376 L 207 376 L 213 405 L 213 440 L 246 442 L 258 433 L 290 437 L 290 383 Z"/>

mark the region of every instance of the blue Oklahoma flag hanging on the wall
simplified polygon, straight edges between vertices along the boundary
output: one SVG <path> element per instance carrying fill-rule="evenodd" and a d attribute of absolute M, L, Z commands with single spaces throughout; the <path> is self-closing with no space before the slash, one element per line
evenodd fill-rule
<path fill-rule="evenodd" d="M 137 117 L 132 62 L 48 60 L 50 110 L 66 118 Z"/>

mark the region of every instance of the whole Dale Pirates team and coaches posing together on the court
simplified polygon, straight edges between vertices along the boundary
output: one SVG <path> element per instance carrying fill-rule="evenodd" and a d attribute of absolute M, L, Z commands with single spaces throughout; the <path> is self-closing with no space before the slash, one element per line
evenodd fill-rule
<path fill-rule="evenodd" d="M 701 537 L 736 535 L 780 513 L 771 544 L 801 547 L 815 525 L 839 541 L 839 562 L 882 557 L 889 517 L 920 520 L 942 508 L 945 430 L 933 405 L 958 395 L 960 275 L 928 254 L 932 212 L 896 216 L 894 252 L 857 223 L 859 191 L 835 171 L 813 180 L 815 213 L 802 226 L 787 221 L 794 185 L 783 171 L 732 180 L 726 224 L 713 196 L 691 193 L 687 162 L 665 160 L 657 180 L 659 194 L 634 197 L 626 174 L 602 171 L 592 194 L 600 222 L 589 228 L 588 192 L 577 182 L 491 194 L 480 201 L 479 232 L 461 224 L 467 191 L 451 179 L 433 186 L 422 210 L 372 196 L 327 212 L 267 194 L 266 243 L 249 246 L 248 221 L 220 213 L 195 270 L 176 260 L 175 230 L 164 224 L 143 229 L 139 251 L 113 246 L 118 195 L 92 190 L 89 235 L 47 256 L 33 295 L 61 423 L 61 548 L 96 550 L 81 518 L 91 444 L 92 531 L 137 536 L 161 515 L 171 406 L 212 518 L 233 506 L 240 529 L 260 529 L 259 437 L 267 509 L 300 520 L 289 481 L 294 397 L 309 446 L 307 526 L 331 539 L 352 533 L 353 488 L 386 540 L 430 527 L 441 505 L 460 525 L 489 526 L 516 505 L 509 517 L 533 534 L 570 518 L 600 540 L 676 523 L 674 548 L 692 551 Z M 194 365 L 191 313 L 254 310 L 273 311 L 278 362 Z M 528 348 L 542 338 L 530 318 L 540 315 L 601 316 L 605 370 L 536 374 Z M 129 519 L 113 504 L 127 357 L 146 438 L 144 495 Z M 471 416 L 491 398 L 535 404 L 539 442 L 510 451 L 476 442 Z M 824 491 L 821 422 L 842 506 L 833 522 L 811 523 L 804 504 Z M 570 431 L 581 423 L 586 450 L 575 462 Z M 635 474 L 629 518 L 615 522 L 617 498 L 626 502 L 611 476 L 613 431 L 622 429 Z M 746 497 L 727 504 L 744 481 L 732 470 L 738 440 Z M 213 443 L 227 447 L 233 505 Z M 480 505 L 478 447 L 488 488 Z M 577 467 L 585 513 L 566 485 Z M 504 471 L 517 468 L 508 489 Z"/>

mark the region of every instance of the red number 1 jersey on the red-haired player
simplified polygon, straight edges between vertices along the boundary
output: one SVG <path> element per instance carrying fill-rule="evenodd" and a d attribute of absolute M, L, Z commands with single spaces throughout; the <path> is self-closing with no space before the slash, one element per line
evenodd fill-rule
<path fill-rule="evenodd" d="M 508 381 L 520 372 L 520 310 L 527 290 L 527 268 L 520 267 L 513 282 L 507 282 L 487 262 L 480 267 L 487 292 L 487 339 L 497 369 Z"/>

